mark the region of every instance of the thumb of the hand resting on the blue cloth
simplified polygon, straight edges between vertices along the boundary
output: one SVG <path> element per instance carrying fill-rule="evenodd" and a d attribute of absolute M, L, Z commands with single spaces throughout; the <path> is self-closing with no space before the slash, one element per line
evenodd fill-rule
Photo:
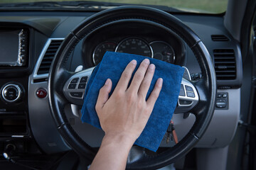
<path fill-rule="evenodd" d="M 104 86 L 102 86 L 102 88 L 100 89 L 100 93 L 97 98 L 97 103 L 95 106 L 96 111 L 100 108 L 103 108 L 103 106 L 107 102 L 111 88 L 112 88 L 112 81 L 110 79 L 107 79 Z"/>

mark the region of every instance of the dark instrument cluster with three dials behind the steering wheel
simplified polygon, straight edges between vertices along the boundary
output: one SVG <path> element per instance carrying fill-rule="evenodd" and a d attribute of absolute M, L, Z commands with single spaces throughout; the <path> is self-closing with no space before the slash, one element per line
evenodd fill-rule
<path fill-rule="evenodd" d="M 187 45 L 176 33 L 146 23 L 113 23 L 98 28 L 82 41 L 85 67 L 99 64 L 105 52 L 142 55 L 171 64 L 186 63 Z"/>

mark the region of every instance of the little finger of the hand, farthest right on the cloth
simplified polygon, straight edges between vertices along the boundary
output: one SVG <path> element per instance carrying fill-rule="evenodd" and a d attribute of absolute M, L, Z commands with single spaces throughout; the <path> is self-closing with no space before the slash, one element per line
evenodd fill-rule
<path fill-rule="evenodd" d="M 156 103 L 156 100 L 159 97 L 162 86 L 163 86 L 163 79 L 159 78 L 156 81 L 154 89 L 153 89 L 153 91 L 151 91 L 151 94 L 150 94 L 148 100 L 146 101 L 146 104 L 148 104 L 148 106 L 151 107 L 152 109 L 154 108 L 154 104 Z"/>

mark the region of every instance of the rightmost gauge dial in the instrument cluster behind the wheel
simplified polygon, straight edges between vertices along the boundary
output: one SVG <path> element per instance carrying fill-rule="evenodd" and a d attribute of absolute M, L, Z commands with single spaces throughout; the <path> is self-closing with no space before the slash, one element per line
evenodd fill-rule
<path fill-rule="evenodd" d="M 150 43 L 154 52 L 154 58 L 164 62 L 174 63 L 175 53 L 174 49 L 163 41 L 154 41 Z"/>

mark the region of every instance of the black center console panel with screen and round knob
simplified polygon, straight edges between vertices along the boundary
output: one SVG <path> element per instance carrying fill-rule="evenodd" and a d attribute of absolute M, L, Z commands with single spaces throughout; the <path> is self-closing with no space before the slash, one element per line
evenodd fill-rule
<path fill-rule="evenodd" d="M 0 141 L 31 137 L 27 99 L 30 35 L 27 26 L 0 26 Z"/>

